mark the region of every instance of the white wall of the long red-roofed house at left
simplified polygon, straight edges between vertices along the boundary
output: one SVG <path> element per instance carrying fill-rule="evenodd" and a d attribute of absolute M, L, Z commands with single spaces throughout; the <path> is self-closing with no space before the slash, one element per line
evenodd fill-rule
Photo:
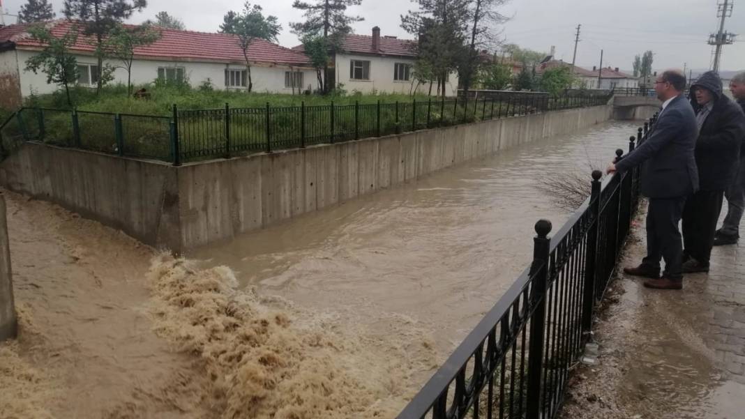
<path fill-rule="evenodd" d="M 10 51 L 8 51 L 10 52 Z M 36 51 L 17 51 L 17 65 L 21 68 L 20 84 L 21 92 L 24 97 L 35 93 L 43 95 L 54 92 L 58 86 L 46 83 L 46 74 L 39 71 L 34 74 L 32 71 L 25 71 L 25 62 L 28 58 L 37 54 Z M 6 53 L 3 53 L 4 55 Z M 77 55 L 78 65 L 95 65 L 96 58 L 91 55 Z M 105 60 L 104 63 L 111 65 L 121 65 L 121 62 Z M 226 87 L 225 86 L 225 69 L 245 70 L 246 65 L 226 64 L 226 63 L 197 63 L 191 61 L 174 62 L 158 60 L 135 60 L 132 65 L 132 83 L 144 84 L 150 83 L 158 77 L 159 68 L 183 68 L 183 74 L 186 75 L 189 84 L 198 87 L 205 81 L 209 80 L 215 89 L 241 89 L 244 87 Z M 293 68 L 294 71 L 298 71 Z M 254 92 L 273 92 L 273 93 L 291 93 L 291 87 L 285 87 L 285 72 L 291 71 L 288 66 L 276 65 L 252 65 L 251 78 L 253 80 Z M 303 69 L 302 71 L 303 89 L 317 88 L 316 72 L 313 69 Z M 127 83 L 127 71 L 124 68 L 117 68 L 114 72 L 113 83 Z"/>

